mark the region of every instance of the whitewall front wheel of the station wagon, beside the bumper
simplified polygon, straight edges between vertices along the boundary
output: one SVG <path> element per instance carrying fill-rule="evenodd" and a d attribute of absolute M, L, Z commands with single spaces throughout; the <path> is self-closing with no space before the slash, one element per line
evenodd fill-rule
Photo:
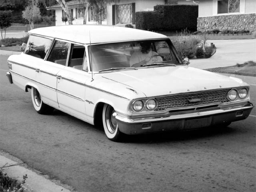
<path fill-rule="evenodd" d="M 107 138 L 112 141 L 119 141 L 122 137 L 122 133 L 118 129 L 116 111 L 112 106 L 104 104 L 102 121 Z"/>

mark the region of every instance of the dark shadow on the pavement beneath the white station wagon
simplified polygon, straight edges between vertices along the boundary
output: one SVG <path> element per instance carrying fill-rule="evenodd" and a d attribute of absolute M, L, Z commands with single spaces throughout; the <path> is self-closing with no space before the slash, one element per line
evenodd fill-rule
<path fill-rule="evenodd" d="M 93 126 L 87 122 L 84 122 L 60 110 L 55 109 L 51 115 L 56 117 L 57 116 L 65 117 L 65 119 L 67 120 L 67 123 L 74 124 L 74 127 L 76 128 L 81 127 L 81 130 L 90 129 L 90 131 L 101 132 L 102 134 L 105 134 L 102 126 L 100 125 Z M 157 132 L 157 133 L 150 133 L 150 134 L 124 135 L 124 137 L 122 138 L 122 140 L 120 140 L 120 142 L 152 143 L 152 144 L 164 143 L 164 142 L 179 142 L 179 141 L 185 141 L 185 140 L 197 140 L 200 138 L 211 138 L 211 137 L 230 135 L 230 134 L 235 134 L 236 132 L 238 132 L 238 130 L 232 128 L 232 124 L 229 126 L 216 125 L 212 127 L 205 127 L 205 128 L 200 128 L 195 130 L 186 130 L 186 131 L 166 131 L 166 132 Z"/>

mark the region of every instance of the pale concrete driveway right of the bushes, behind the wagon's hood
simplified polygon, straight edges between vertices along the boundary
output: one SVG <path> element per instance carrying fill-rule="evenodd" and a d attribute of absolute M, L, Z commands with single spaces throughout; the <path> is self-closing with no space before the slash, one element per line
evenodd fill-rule
<path fill-rule="evenodd" d="M 216 53 L 208 59 L 190 60 L 190 67 L 208 69 L 256 61 L 256 39 L 208 40 L 211 42 L 217 48 Z"/>

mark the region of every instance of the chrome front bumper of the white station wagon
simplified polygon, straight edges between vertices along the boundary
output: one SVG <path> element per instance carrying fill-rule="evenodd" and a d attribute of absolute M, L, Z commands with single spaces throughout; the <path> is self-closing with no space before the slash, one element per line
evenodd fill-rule
<path fill-rule="evenodd" d="M 217 109 L 188 114 L 170 114 L 167 117 L 153 118 L 123 118 L 116 116 L 120 132 L 125 134 L 144 134 L 150 132 L 190 130 L 202 127 L 214 126 L 228 122 L 239 121 L 247 118 L 253 108 L 248 102 L 242 106 Z"/>

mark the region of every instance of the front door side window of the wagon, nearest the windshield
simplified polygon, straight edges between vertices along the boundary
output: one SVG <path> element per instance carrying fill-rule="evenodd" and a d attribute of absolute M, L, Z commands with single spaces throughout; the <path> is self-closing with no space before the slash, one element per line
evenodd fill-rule
<path fill-rule="evenodd" d="M 82 70 L 82 65 L 87 67 L 85 47 L 78 44 L 71 44 L 69 67 Z"/>

